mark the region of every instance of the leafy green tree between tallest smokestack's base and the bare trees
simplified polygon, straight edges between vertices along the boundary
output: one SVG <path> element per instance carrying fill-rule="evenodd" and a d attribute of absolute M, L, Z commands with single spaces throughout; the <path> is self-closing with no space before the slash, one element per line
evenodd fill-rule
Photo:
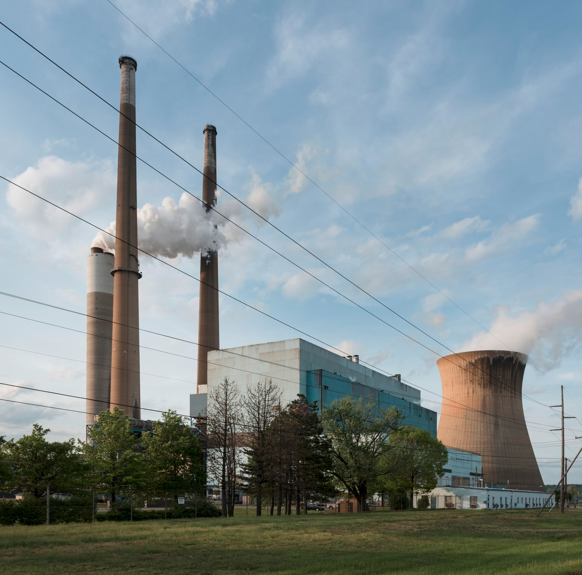
<path fill-rule="evenodd" d="M 149 490 L 179 494 L 196 493 L 204 484 L 204 462 L 200 441 L 182 416 L 168 410 L 154 423 L 152 434 L 142 438 L 144 468 L 152 481 Z"/>

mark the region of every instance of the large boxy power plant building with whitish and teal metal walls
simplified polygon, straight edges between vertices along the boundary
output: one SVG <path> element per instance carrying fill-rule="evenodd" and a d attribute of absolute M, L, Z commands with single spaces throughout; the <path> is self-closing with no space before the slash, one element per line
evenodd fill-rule
<path fill-rule="evenodd" d="M 347 395 L 372 401 L 378 409 L 396 406 L 404 425 L 437 434 L 437 413 L 420 405 L 420 391 L 359 363 L 300 338 L 208 352 L 208 383 L 190 395 L 190 415 L 204 415 L 208 392 L 225 377 L 235 380 L 240 392 L 264 378 L 282 392 L 282 405 L 303 394 L 318 406 Z"/>

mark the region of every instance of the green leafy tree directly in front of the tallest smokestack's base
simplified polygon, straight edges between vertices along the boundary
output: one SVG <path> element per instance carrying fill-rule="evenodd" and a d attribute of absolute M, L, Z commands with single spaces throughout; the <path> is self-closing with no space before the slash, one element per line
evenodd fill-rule
<path fill-rule="evenodd" d="M 87 443 L 79 442 L 87 481 L 110 494 L 111 503 L 132 489 L 140 489 L 152 476 L 151 467 L 144 465 L 144 457 L 138 451 L 139 441 L 130 429 L 129 418 L 122 410 L 101 412 L 87 436 Z"/>

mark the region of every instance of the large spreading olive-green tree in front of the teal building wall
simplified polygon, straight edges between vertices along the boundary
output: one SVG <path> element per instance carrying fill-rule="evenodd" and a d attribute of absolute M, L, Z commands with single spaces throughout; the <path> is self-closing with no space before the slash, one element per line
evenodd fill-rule
<path fill-rule="evenodd" d="M 332 455 L 331 473 L 356 497 L 359 510 L 368 510 L 368 487 L 389 473 L 382 460 L 391 451 L 389 437 L 402 414 L 392 407 L 377 410 L 373 402 L 350 397 L 336 399 L 323 409 L 324 433 Z"/>

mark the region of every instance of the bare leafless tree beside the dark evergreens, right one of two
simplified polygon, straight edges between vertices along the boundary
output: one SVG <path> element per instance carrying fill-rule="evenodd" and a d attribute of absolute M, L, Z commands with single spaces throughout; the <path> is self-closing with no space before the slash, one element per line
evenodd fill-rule
<path fill-rule="evenodd" d="M 278 413 L 280 402 L 281 391 L 267 378 L 247 388 L 242 401 L 248 445 L 245 472 L 249 487 L 257 497 L 257 515 L 261 515 L 262 485 L 267 480 L 269 427 Z"/>

